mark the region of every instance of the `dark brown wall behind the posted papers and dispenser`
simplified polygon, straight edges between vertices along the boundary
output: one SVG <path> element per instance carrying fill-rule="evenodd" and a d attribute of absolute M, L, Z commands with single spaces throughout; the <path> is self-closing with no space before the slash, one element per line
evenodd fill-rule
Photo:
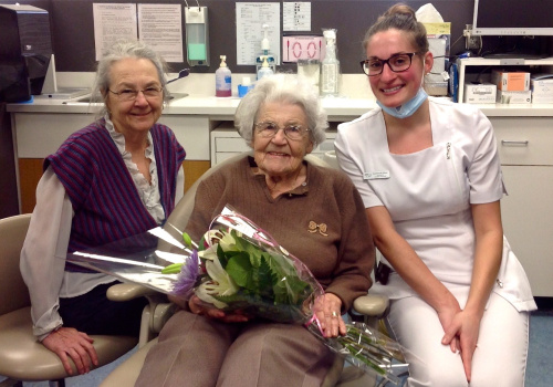
<path fill-rule="evenodd" d="M 95 70 L 93 2 L 129 2 L 123 0 L 29 0 L 29 3 L 46 9 L 51 13 L 53 48 L 56 70 L 63 72 L 90 72 Z M 142 0 L 136 3 L 179 3 L 180 0 Z M 279 2 L 282 1 L 258 1 Z M 414 9 L 428 3 L 422 1 L 405 1 Z M 0 3 L 13 1 L 0 0 Z M 236 57 L 236 3 L 233 0 L 200 0 L 200 6 L 208 7 L 210 67 L 194 67 L 196 73 L 213 73 L 219 66 L 219 55 L 227 55 L 227 63 L 237 73 L 254 72 L 253 66 L 237 66 Z M 358 73 L 358 61 L 363 57 L 361 42 L 366 29 L 396 1 L 382 0 L 312 0 L 311 31 L 303 34 L 321 34 L 322 28 L 337 29 L 337 49 L 343 73 Z M 435 0 L 432 4 L 446 21 L 452 23 L 451 41 L 462 34 L 467 23 L 471 23 L 473 0 Z M 196 4 L 195 0 L 188 4 Z M 282 10 L 282 6 L 281 6 Z M 182 12 L 184 14 L 184 12 Z M 184 19 L 184 17 L 182 17 Z M 182 21 L 184 22 L 184 21 Z M 182 25 L 182 31 L 185 28 Z M 261 39 L 262 36 L 260 36 Z M 463 50 L 465 42 L 459 40 L 452 52 Z M 185 50 L 186 53 L 186 50 Z M 186 56 L 186 54 L 185 54 Z M 177 71 L 186 63 L 171 63 L 171 70 Z M 294 65 L 281 65 L 280 71 L 295 71 Z"/>

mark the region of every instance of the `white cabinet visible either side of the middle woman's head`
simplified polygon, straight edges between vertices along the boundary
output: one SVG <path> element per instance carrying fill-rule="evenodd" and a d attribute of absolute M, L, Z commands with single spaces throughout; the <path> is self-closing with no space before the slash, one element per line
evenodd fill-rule
<path fill-rule="evenodd" d="M 330 130 L 326 132 L 326 140 L 313 149 L 312 154 L 322 158 L 324 153 L 334 150 L 335 137 L 336 125 L 331 124 Z M 240 137 L 231 122 L 223 122 L 211 132 L 211 166 L 239 153 L 250 150 L 251 148 Z"/>

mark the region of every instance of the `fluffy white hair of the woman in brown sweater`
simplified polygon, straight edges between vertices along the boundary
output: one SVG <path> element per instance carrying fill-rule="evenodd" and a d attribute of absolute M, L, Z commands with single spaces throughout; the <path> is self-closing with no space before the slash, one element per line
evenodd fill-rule
<path fill-rule="evenodd" d="M 310 139 L 316 147 L 326 138 L 328 127 L 326 112 L 321 106 L 319 90 L 313 84 L 295 74 L 274 74 L 255 83 L 253 90 L 242 98 L 234 114 L 234 127 L 251 146 L 253 126 L 260 108 L 267 102 L 282 102 L 299 105 L 307 116 Z"/>

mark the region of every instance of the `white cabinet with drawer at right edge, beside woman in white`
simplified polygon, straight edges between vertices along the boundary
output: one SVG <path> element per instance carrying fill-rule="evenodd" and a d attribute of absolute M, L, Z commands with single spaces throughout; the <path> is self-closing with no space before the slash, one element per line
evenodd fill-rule
<path fill-rule="evenodd" d="M 534 296 L 553 296 L 553 117 L 490 117 L 508 196 L 504 233 Z"/>

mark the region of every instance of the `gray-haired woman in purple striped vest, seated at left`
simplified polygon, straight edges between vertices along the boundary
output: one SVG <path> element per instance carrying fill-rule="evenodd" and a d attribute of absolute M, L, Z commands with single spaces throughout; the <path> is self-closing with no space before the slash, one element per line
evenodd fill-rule
<path fill-rule="evenodd" d="M 139 42 L 121 42 L 100 61 L 93 95 L 100 118 L 44 160 L 36 207 L 21 252 L 33 332 L 71 375 L 97 365 L 88 334 L 137 335 L 144 300 L 113 303 L 114 278 L 65 261 L 161 224 L 184 192 L 185 150 L 157 124 L 168 101 L 165 62 Z"/>

